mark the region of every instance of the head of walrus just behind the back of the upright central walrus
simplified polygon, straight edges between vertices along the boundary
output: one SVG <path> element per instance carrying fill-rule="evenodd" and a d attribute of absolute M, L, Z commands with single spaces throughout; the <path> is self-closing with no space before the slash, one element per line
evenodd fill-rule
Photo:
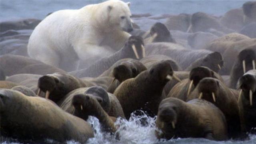
<path fill-rule="evenodd" d="M 140 74 L 140 72 L 144 70 L 146 70 L 146 67 L 140 61 L 131 60 L 122 62 L 116 66 L 113 69 L 112 74 L 114 78 L 121 83 L 129 78 L 135 78 L 138 74 Z"/>

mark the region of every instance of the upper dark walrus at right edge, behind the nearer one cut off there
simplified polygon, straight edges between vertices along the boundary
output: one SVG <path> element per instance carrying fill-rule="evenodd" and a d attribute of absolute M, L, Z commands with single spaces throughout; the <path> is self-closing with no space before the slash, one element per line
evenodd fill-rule
<path fill-rule="evenodd" d="M 254 48 L 254 49 L 253 49 Z M 230 72 L 230 88 L 236 88 L 238 79 L 248 70 L 255 69 L 256 45 L 250 46 L 239 52 L 236 62 Z"/>

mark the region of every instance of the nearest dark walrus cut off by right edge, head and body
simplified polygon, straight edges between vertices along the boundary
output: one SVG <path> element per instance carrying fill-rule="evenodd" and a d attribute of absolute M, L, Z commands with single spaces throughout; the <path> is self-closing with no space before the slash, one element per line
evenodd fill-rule
<path fill-rule="evenodd" d="M 240 108 L 240 115 L 244 121 L 244 130 L 255 134 L 256 127 L 256 70 L 249 70 L 237 83 L 240 94 L 238 104 Z"/>

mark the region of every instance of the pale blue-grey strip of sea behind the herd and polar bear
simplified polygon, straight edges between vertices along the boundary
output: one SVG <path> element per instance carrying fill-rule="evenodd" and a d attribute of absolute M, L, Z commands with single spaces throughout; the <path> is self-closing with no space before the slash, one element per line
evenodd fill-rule
<path fill-rule="evenodd" d="M 105 0 L 0 0 L 0 21 L 16 18 L 43 19 L 48 13 L 62 9 L 78 9 Z M 132 14 L 180 14 L 206 12 L 222 15 L 240 8 L 246 0 L 123 0 L 131 2 Z"/>

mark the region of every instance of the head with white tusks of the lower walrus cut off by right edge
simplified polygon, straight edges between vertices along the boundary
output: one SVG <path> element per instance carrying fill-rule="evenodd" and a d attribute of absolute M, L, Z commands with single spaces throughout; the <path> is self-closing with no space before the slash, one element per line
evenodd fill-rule
<path fill-rule="evenodd" d="M 238 101 L 241 99 L 242 92 L 244 93 L 244 100 L 246 105 L 254 106 L 256 99 L 253 98 L 256 96 L 256 70 L 250 70 L 239 78 L 237 87 L 240 89 L 240 94 Z"/>

